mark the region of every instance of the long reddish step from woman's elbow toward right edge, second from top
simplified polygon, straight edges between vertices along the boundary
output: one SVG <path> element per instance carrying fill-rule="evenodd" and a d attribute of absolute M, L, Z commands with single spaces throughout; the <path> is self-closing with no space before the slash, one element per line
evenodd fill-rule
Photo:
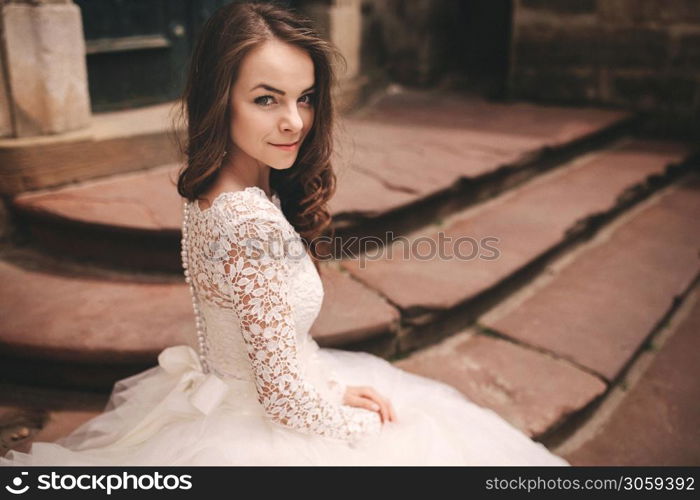
<path fill-rule="evenodd" d="M 621 141 L 456 213 L 440 227 L 346 259 L 342 267 L 398 307 L 407 327 L 416 327 L 402 334 L 401 350 L 419 347 L 456 331 L 440 325 L 446 312 L 483 307 L 479 301 L 492 300 L 496 287 L 688 170 L 689 165 L 675 163 L 689 154 L 689 145 L 673 141 Z M 457 254 L 455 241 L 462 241 Z M 428 257 L 426 243 L 442 257 Z M 440 328 L 426 330 L 426 324 Z"/>

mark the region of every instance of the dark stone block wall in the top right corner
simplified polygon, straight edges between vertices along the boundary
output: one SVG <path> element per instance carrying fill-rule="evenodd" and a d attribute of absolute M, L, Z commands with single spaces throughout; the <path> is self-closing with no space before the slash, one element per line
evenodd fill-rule
<path fill-rule="evenodd" d="M 700 134 L 699 0 L 514 0 L 509 94 L 648 113 Z"/>

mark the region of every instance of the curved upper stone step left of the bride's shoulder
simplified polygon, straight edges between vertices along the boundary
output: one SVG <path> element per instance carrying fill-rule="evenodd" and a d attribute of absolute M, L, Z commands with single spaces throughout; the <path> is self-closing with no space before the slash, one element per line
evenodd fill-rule
<path fill-rule="evenodd" d="M 182 198 L 177 165 L 25 193 L 13 201 L 31 247 L 64 259 L 179 272 Z"/>

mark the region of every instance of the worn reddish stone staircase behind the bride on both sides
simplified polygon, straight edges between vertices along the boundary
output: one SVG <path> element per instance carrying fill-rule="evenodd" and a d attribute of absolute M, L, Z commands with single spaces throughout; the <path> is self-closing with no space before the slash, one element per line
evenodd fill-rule
<path fill-rule="evenodd" d="M 425 91 L 346 116 L 330 208 L 338 236 L 375 244 L 323 263 L 311 334 L 564 443 L 697 282 L 698 151 L 636 125 L 618 110 Z M 176 173 L 14 198 L 0 254 L 6 447 L 69 432 L 194 328 Z M 463 244 L 425 257 L 446 238 Z"/>

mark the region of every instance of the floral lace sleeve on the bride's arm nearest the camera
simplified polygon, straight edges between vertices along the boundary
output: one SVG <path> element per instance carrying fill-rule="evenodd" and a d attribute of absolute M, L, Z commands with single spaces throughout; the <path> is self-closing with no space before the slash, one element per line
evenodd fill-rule
<path fill-rule="evenodd" d="M 292 262 L 272 251 L 294 237 L 281 212 L 261 199 L 239 198 L 222 207 L 220 267 L 240 321 L 258 400 L 276 424 L 357 443 L 381 429 L 376 412 L 325 400 L 302 377 L 288 302 Z M 261 207 L 261 204 L 263 205 Z M 292 229 L 293 231 L 293 229 Z M 338 386 L 336 386 L 338 387 Z"/>

